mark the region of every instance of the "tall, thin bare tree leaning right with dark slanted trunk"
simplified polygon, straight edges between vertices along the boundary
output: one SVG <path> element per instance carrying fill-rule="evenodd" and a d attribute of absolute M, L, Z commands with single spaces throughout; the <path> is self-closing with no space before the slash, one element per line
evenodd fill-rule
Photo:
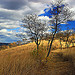
<path fill-rule="evenodd" d="M 49 13 L 50 15 L 47 16 L 51 18 L 49 20 L 49 24 L 53 30 L 53 36 L 50 42 L 47 57 L 51 52 L 51 47 L 52 47 L 55 34 L 60 30 L 60 26 L 62 25 L 62 23 L 66 23 L 68 20 L 71 20 L 73 16 L 69 7 L 67 6 L 67 4 L 63 2 L 63 0 L 56 0 L 54 3 L 52 3 L 51 7 L 49 7 L 48 9 L 48 12 L 50 12 Z"/>

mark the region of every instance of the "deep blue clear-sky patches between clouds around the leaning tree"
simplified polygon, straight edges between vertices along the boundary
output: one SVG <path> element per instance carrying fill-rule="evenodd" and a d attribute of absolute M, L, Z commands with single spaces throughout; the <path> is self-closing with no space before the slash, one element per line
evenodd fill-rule
<path fill-rule="evenodd" d="M 57 7 L 54 5 L 52 5 L 52 8 L 51 8 L 51 6 L 49 7 L 49 5 L 47 5 L 47 6 L 48 6 L 48 8 L 44 9 L 44 13 L 40 14 L 39 16 L 44 16 L 44 17 L 46 16 L 46 17 L 49 17 L 49 19 L 50 19 L 53 17 L 53 15 L 57 14 L 57 10 L 55 10 Z M 59 6 L 59 8 L 60 7 L 64 8 L 64 6 L 65 5 L 62 4 L 61 6 Z M 75 19 L 73 21 L 68 21 L 66 24 L 61 24 L 61 31 L 65 31 L 65 30 L 67 30 L 67 28 L 69 28 L 70 30 L 75 28 Z"/>

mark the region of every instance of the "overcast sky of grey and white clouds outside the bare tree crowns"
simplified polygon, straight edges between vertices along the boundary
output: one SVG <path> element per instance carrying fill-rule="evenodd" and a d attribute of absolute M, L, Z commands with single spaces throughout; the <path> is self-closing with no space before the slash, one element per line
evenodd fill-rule
<path fill-rule="evenodd" d="M 12 43 L 20 40 L 21 20 L 27 14 L 42 14 L 52 0 L 0 0 L 0 42 Z M 64 0 L 75 11 L 74 0 Z M 48 17 L 41 17 L 48 19 Z M 75 17 L 74 17 L 75 18 Z M 74 27 L 73 22 L 72 27 Z M 64 30 L 64 27 L 62 27 Z M 26 33 L 25 33 L 26 34 Z M 26 34 L 27 35 L 27 34 Z"/>

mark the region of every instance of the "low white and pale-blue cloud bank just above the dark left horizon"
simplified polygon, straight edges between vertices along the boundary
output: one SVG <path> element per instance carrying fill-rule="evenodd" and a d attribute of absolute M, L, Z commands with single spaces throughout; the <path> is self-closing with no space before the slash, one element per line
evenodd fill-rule
<path fill-rule="evenodd" d="M 10 43 L 14 41 L 21 40 L 19 37 L 16 36 L 17 32 L 15 31 L 8 31 L 7 29 L 0 30 L 0 42 Z"/>

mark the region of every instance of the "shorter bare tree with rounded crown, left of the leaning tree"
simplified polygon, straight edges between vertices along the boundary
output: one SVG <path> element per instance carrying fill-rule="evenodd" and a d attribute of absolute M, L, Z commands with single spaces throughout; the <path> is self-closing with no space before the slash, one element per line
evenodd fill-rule
<path fill-rule="evenodd" d="M 24 23 L 22 25 L 23 28 L 27 28 L 27 35 L 30 38 L 34 38 L 35 43 L 37 45 L 37 55 L 38 49 L 41 42 L 41 37 L 44 35 L 44 32 L 47 30 L 46 22 L 38 19 L 37 15 L 27 15 L 22 20 Z"/>

